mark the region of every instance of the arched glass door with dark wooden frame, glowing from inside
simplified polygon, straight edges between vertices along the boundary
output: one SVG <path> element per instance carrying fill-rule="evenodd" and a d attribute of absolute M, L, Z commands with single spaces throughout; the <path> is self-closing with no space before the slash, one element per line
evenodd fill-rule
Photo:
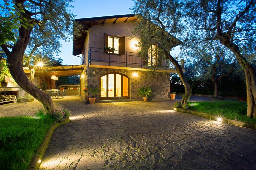
<path fill-rule="evenodd" d="M 121 73 L 107 73 L 100 77 L 100 100 L 129 99 L 129 77 Z"/>

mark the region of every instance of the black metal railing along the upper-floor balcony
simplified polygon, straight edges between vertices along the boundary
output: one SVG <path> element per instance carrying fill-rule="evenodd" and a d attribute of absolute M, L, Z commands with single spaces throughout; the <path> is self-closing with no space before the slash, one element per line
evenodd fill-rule
<path fill-rule="evenodd" d="M 151 59 L 151 58 L 150 58 Z M 95 48 L 90 47 L 90 50 L 88 52 L 88 64 L 91 64 L 91 61 L 100 61 L 100 62 L 108 62 L 109 66 L 110 63 L 124 63 L 127 67 L 127 64 L 134 64 L 134 65 L 140 65 L 142 66 L 148 66 L 150 63 L 154 63 L 152 61 L 155 61 L 155 58 L 152 58 L 152 61 L 144 61 L 141 57 L 138 56 L 138 53 L 132 53 L 125 51 L 125 54 L 115 54 L 115 53 L 106 53 L 103 48 Z M 186 60 L 184 60 L 184 63 L 181 64 L 181 60 L 178 60 L 178 63 L 185 68 L 186 66 Z M 165 60 L 163 62 L 163 67 L 167 68 L 175 68 L 172 62 L 169 60 Z"/>

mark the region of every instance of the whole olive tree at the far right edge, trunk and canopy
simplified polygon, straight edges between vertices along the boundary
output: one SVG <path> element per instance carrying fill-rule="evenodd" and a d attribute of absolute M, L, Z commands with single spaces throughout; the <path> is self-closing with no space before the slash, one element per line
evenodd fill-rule
<path fill-rule="evenodd" d="M 184 1 L 186 23 L 201 42 L 219 41 L 236 56 L 246 76 L 247 116 L 256 117 L 256 0 Z"/>

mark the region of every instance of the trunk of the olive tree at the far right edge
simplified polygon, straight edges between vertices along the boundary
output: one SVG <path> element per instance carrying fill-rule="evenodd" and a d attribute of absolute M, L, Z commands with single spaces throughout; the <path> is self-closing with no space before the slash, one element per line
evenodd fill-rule
<path fill-rule="evenodd" d="M 233 42 L 229 41 L 229 38 L 223 38 L 220 43 L 230 49 L 236 56 L 237 61 L 242 66 L 246 77 L 246 93 L 247 93 L 247 116 L 256 117 L 256 77 L 255 69 L 249 64 L 239 50 L 239 47 Z"/>

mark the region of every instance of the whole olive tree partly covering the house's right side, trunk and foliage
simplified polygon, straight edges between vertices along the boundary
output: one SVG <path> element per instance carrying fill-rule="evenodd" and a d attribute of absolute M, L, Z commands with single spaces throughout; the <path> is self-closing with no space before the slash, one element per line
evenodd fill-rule
<path fill-rule="evenodd" d="M 152 50 L 152 44 L 157 46 L 157 58 L 154 64 L 150 63 L 151 70 L 158 70 L 166 59 L 175 66 L 177 73 L 185 87 L 185 95 L 182 104 L 187 103 L 191 95 L 191 87 L 184 76 L 182 67 L 170 54 L 170 51 L 182 42 L 177 39 L 184 32 L 182 23 L 182 3 L 167 0 L 134 0 L 135 6 L 131 9 L 138 17 L 132 33 L 140 36 L 139 55 L 147 60 L 148 50 Z"/>

